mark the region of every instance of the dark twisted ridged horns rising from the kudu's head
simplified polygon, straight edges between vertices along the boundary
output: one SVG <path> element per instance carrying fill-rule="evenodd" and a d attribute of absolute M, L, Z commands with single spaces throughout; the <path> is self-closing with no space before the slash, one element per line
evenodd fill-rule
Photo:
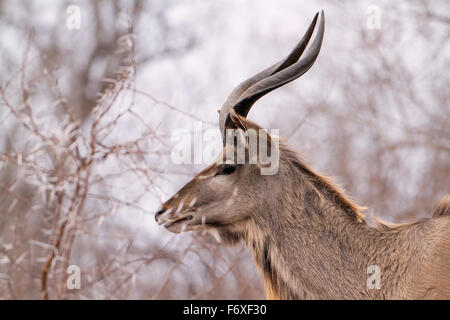
<path fill-rule="evenodd" d="M 234 109 L 237 114 L 246 117 L 250 108 L 259 98 L 266 93 L 297 79 L 312 67 L 319 55 L 325 31 L 325 16 L 323 10 L 320 14 L 317 34 L 304 57 L 301 59 L 300 57 L 311 39 L 318 16 L 319 13 L 316 13 L 303 38 L 286 58 L 245 80 L 228 96 L 225 104 L 220 110 L 219 116 L 219 126 L 220 131 L 222 132 L 224 145 L 226 139 L 225 130 L 228 128 L 235 128 L 230 118 L 231 109 Z"/>

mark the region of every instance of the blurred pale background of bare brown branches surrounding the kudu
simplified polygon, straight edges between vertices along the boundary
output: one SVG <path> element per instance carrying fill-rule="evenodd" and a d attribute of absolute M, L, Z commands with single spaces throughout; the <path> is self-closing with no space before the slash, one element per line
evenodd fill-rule
<path fill-rule="evenodd" d="M 174 163 L 173 132 L 220 136 L 228 93 L 320 9 L 315 65 L 249 119 L 369 219 L 430 216 L 450 193 L 446 0 L 0 0 L 0 299 L 264 298 L 244 244 L 154 212 L 207 165 Z"/>

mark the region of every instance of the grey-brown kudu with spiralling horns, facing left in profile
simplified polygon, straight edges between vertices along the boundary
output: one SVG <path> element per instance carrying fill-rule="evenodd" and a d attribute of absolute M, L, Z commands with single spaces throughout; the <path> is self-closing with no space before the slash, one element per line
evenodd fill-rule
<path fill-rule="evenodd" d="M 253 103 L 313 65 L 324 35 L 323 12 L 309 51 L 300 56 L 317 19 L 287 58 L 233 90 L 220 111 L 224 148 L 218 161 L 164 203 L 156 221 L 175 233 L 208 230 L 227 244 L 245 240 L 268 298 L 449 299 L 450 198 L 429 219 L 373 227 L 361 207 L 283 143 L 274 175 L 261 175 L 259 160 L 221 161 L 230 148 L 236 153 L 226 131 L 260 130 L 246 119 Z M 379 287 L 368 285 L 368 272 L 375 271 Z"/>

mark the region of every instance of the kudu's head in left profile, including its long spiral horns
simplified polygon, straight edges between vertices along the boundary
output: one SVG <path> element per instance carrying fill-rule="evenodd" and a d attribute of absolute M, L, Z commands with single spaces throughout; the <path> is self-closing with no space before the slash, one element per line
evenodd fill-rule
<path fill-rule="evenodd" d="M 318 17 L 319 13 L 286 58 L 244 81 L 231 92 L 219 116 L 223 138 L 221 154 L 162 205 L 155 215 L 159 225 L 174 233 L 207 230 L 227 242 L 234 242 L 242 233 L 237 229 L 254 219 L 258 206 L 265 203 L 283 183 L 278 173 L 263 172 L 267 166 L 277 166 L 264 162 L 261 157 L 264 152 L 261 150 L 271 154 L 269 162 L 278 161 L 273 159 L 273 155 L 283 157 L 278 154 L 280 149 L 274 143 L 276 137 L 269 136 L 246 116 L 263 95 L 295 80 L 311 68 L 323 40 L 323 11 L 317 34 L 305 55 L 301 56 L 312 37 Z M 244 161 L 239 161 L 242 154 Z M 279 165 L 283 165 L 282 160 Z"/>

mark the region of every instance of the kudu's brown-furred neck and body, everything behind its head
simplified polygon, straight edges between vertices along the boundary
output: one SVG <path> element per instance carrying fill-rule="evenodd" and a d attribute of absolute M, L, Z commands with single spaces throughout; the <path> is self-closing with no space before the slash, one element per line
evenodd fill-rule
<path fill-rule="evenodd" d="M 262 205 L 273 211 L 246 221 L 242 234 L 269 299 L 450 298 L 450 217 L 370 227 L 338 188 L 289 149 L 282 155 L 288 166 L 281 174 L 297 171 L 298 178 L 286 179 L 268 200 L 274 205 Z M 366 287 L 373 264 L 381 268 L 381 289 Z"/>

